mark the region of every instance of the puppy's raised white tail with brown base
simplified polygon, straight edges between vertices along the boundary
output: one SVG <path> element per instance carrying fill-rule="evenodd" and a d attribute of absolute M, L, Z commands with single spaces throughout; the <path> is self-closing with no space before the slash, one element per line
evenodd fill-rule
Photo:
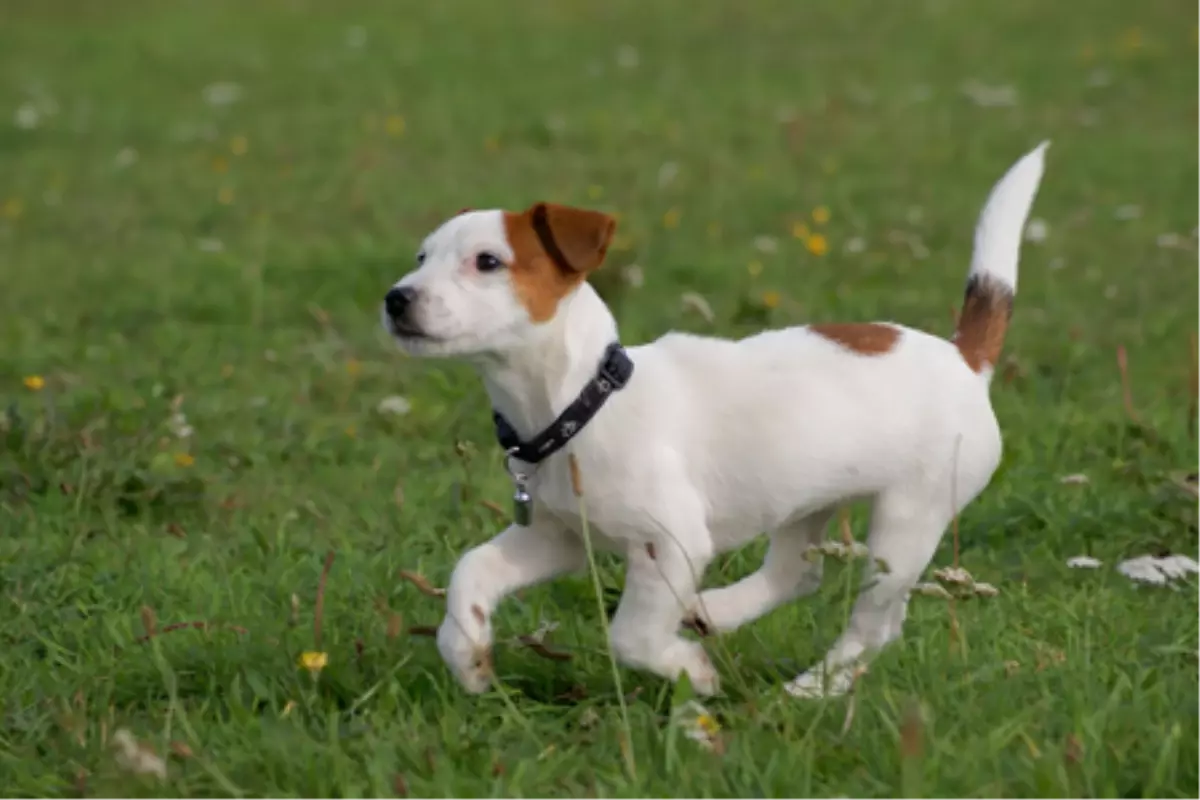
<path fill-rule="evenodd" d="M 991 380 L 1016 295 L 1016 260 L 1030 207 L 1042 182 L 1043 142 L 991 190 L 976 225 L 974 253 L 954 344 L 972 371 Z"/>

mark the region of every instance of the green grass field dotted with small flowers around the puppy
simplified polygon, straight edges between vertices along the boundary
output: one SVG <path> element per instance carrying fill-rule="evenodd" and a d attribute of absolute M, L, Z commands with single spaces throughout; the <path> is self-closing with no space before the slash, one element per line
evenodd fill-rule
<path fill-rule="evenodd" d="M 1168 480 L 1200 468 L 1193 6 L 4 4 L 6 792 L 162 796 L 114 758 L 127 728 L 191 796 L 1196 796 L 1200 590 L 1112 569 L 1200 552 L 1196 500 Z M 1004 463 L 960 521 L 962 565 L 1001 594 L 958 603 L 960 639 L 944 601 L 914 599 L 852 700 L 787 698 L 845 621 L 854 576 L 833 570 L 712 645 L 720 753 L 666 724 L 671 686 L 622 673 L 631 777 L 587 576 L 503 607 L 502 639 L 554 621 L 572 656 L 502 644 L 504 693 L 466 697 L 408 632 L 440 601 L 400 571 L 443 585 L 509 492 L 475 377 L 379 331 L 438 221 L 619 211 L 598 281 L 631 343 L 833 319 L 948 333 L 974 215 L 1043 138 L 1049 235 L 1025 248 L 992 390 Z M 378 411 L 389 396 L 410 411 Z M 1068 570 L 1081 553 L 1105 566 Z M 619 564 L 601 579 L 611 606 Z"/>

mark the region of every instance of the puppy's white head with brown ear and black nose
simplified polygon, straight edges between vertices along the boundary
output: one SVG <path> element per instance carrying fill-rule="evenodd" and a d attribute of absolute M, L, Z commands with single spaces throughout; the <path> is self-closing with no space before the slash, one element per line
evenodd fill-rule
<path fill-rule="evenodd" d="M 413 355 L 517 347 L 604 263 L 616 228 L 600 211 L 552 203 L 462 211 L 426 237 L 416 269 L 388 291 L 384 327 Z"/>

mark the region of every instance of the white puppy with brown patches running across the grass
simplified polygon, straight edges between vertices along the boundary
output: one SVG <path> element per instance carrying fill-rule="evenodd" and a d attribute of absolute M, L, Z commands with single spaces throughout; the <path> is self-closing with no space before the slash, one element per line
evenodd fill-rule
<path fill-rule="evenodd" d="M 628 350 L 587 277 L 616 221 L 538 203 L 463 210 L 431 233 L 388 290 L 383 325 L 413 356 L 475 365 L 516 483 L 516 522 L 468 551 L 446 589 L 438 650 L 473 693 L 492 681 L 497 604 L 623 555 L 608 627 L 624 664 L 719 691 L 682 626 L 732 631 L 816 591 L 832 515 L 872 504 L 872 557 L 848 625 L 792 694 L 845 692 L 901 633 L 908 594 L 955 515 L 1000 464 L 989 385 L 1016 291 L 1020 242 L 1048 142 L 1020 158 L 980 213 L 949 341 L 893 323 L 820 324 L 739 341 L 671 332 Z M 710 560 L 762 533 L 758 571 L 698 589 Z"/>

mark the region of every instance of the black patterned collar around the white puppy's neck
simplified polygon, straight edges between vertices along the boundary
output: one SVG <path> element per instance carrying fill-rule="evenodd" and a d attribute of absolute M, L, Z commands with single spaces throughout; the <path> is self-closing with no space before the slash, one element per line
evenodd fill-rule
<path fill-rule="evenodd" d="M 608 396 L 624 389 L 632 374 L 634 361 L 625 354 L 620 342 L 613 342 L 605 350 L 595 377 L 588 381 L 575 402 L 550 423 L 550 427 L 529 441 L 521 441 L 512 425 L 499 411 L 493 410 L 496 438 L 499 439 L 504 452 L 512 458 L 527 464 L 539 464 L 565 447 L 566 443 L 592 421 Z"/>

